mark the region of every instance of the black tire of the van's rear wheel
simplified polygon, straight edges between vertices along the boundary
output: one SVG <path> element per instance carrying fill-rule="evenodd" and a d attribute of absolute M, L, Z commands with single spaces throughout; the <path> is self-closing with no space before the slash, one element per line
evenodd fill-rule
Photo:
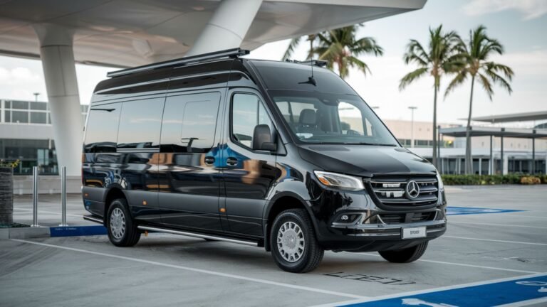
<path fill-rule="evenodd" d="M 117 247 L 132 247 L 140 239 L 140 231 L 133 221 L 127 206 L 127 200 L 118 198 L 110 203 L 106 218 L 108 239 Z M 116 215 L 116 217 L 113 217 Z M 120 222 L 123 220 L 123 222 Z M 123 233 L 120 230 L 123 229 Z"/>

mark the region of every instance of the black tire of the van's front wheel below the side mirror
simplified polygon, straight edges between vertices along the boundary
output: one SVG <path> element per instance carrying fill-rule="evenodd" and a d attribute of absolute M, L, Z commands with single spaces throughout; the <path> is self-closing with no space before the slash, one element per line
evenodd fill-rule
<path fill-rule="evenodd" d="M 285 225 L 283 230 L 288 230 L 288 225 L 292 225 L 296 230 L 293 229 L 294 233 L 283 232 L 282 235 L 279 230 L 283 225 Z M 287 235 L 287 237 L 284 237 L 284 235 Z M 291 259 L 291 254 L 283 253 L 283 256 L 278 246 L 278 239 L 291 244 L 290 246 L 286 245 L 286 247 L 292 247 L 294 250 L 297 250 L 300 253 L 298 258 L 294 259 L 294 261 L 288 261 L 285 257 Z M 300 249 L 297 245 L 300 245 L 299 243 L 301 242 L 303 242 L 303 248 Z M 285 210 L 276 216 L 271 227 L 270 247 L 273 260 L 283 271 L 306 273 L 316 269 L 321 263 L 321 259 L 323 259 L 324 250 L 317 242 L 308 212 L 303 209 Z"/>

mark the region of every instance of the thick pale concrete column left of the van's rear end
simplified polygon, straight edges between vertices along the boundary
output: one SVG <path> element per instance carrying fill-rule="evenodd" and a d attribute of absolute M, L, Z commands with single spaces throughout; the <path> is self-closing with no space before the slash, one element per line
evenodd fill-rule
<path fill-rule="evenodd" d="M 59 169 L 80 176 L 83 123 L 72 48 L 73 32 L 59 26 L 34 26 L 40 41 L 43 76 L 46 79 L 51 124 Z"/>

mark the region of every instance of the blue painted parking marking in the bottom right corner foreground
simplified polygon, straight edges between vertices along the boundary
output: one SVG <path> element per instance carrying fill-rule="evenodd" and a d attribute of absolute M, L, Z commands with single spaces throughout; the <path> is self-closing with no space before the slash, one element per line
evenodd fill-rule
<path fill-rule="evenodd" d="M 547 274 L 528 276 L 522 279 L 499 281 L 457 289 L 417 293 L 414 295 L 385 298 L 377 301 L 352 303 L 343 306 L 359 307 L 490 307 L 509 303 L 543 299 L 547 301 Z"/>

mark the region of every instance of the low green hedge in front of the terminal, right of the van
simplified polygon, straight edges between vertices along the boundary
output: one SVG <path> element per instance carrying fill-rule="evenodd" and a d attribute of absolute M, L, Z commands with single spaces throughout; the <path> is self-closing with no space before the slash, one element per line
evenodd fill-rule
<path fill-rule="evenodd" d="M 547 184 L 545 175 L 442 175 L 445 185 Z"/>

